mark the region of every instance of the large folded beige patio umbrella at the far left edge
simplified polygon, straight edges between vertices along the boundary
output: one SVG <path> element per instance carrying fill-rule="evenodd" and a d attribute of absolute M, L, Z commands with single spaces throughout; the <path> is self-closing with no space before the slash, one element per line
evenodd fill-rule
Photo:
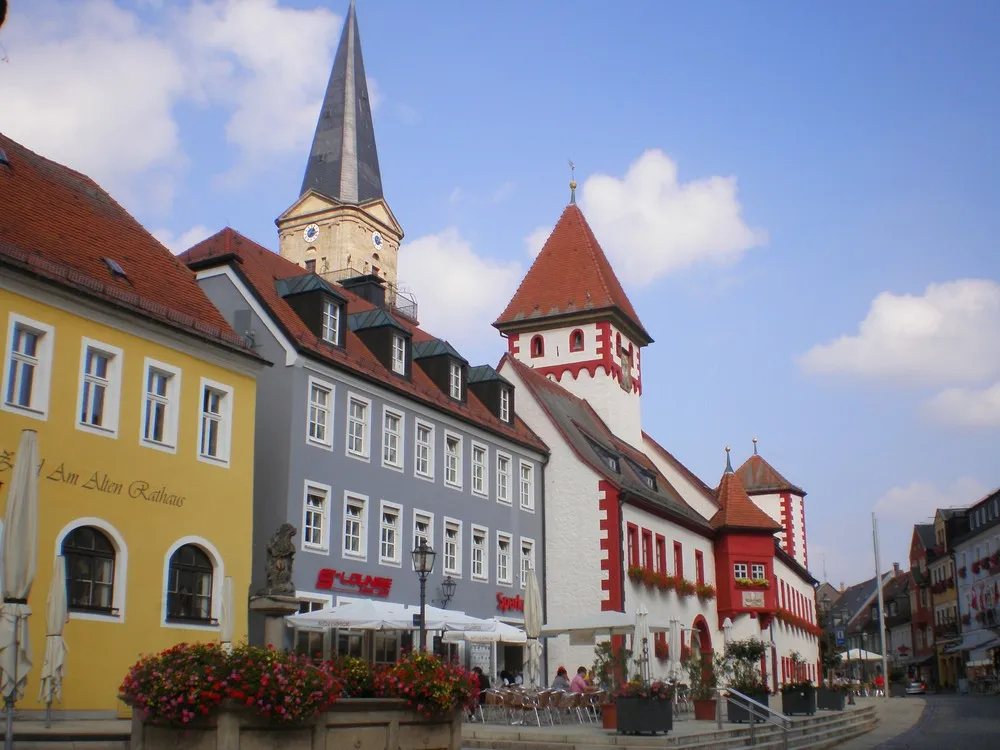
<path fill-rule="evenodd" d="M 14 746 L 14 704 L 31 671 L 28 595 L 35 582 L 38 549 L 38 436 L 21 432 L 4 513 L 3 608 L 0 611 L 0 692 L 7 707 L 4 747 Z"/>

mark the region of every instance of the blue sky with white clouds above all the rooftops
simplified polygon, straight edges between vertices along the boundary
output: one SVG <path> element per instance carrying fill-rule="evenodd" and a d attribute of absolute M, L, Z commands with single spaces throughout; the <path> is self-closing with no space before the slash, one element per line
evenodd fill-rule
<path fill-rule="evenodd" d="M 182 251 L 271 248 L 347 0 L 13 0 L 0 131 Z M 810 567 L 906 565 L 1000 486 L 1000 4 L 358 0 L 400 281 L 496 364 L 578 199 L 646 329 L 644 428 L 807 490 Z M 58 222 L 58 211 L 53 212 Z"/>

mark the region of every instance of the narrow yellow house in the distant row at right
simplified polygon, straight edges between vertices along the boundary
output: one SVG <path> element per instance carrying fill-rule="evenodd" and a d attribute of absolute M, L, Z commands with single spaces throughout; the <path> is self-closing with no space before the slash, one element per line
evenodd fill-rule
<path fill-rule="evenodd" d="M 961 653 L 946 650 L 960 639 L 958 586 L 952 545 L 968 529 L 965 510 L 939 509 L 934 514 L 933 549 L 927 551 L 934 612 L 934 644 L 937 649 L 937 679 L 941 687 L 955 687 L 961 674 Z"/>

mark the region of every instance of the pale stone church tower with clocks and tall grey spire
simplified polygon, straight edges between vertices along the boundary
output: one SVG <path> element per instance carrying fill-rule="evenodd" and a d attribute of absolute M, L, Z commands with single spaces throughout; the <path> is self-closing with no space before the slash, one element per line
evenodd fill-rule
<path fill-rule="evenodd" d="M 351 0 L 302 190 L 279 216 L 282 257 L 334 281 L 372 274 L 395 296 L 403 229 L 382 194 L 371 100 Z"/>

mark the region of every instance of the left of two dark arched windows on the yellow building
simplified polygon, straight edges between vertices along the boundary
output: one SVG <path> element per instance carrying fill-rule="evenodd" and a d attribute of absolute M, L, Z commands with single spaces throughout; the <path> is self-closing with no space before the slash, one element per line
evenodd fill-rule
<path fill-rule="evenodd" d="M 114 614 L 115 548 L 100 529 L 80 526 L 62 543 L 66 597 L 73 612 Z"/>

